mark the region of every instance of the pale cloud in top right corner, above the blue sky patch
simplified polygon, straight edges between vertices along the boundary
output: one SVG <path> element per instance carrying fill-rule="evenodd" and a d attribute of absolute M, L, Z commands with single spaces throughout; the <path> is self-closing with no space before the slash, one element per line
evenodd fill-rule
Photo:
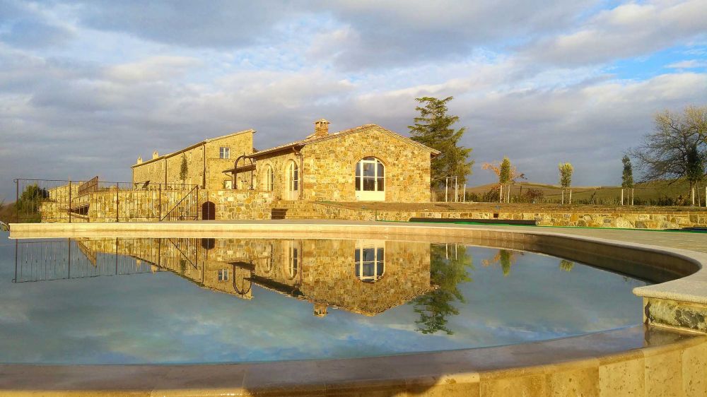
<path fill-rule="evenodd" d="M 636 57 L 704 37 L 705 14 L 707 4 L 700 0 L 622 4 L 575 32 L 532 42 L 524 53 L 530 61 L 567 66 Z"/>

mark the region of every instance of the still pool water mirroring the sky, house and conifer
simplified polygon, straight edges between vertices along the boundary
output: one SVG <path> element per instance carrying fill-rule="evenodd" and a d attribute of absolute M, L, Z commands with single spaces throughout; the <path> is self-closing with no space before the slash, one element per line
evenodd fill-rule
<path fill-rule="evenodd" d="M 508 345 L 641 323 L 645 282 L 375 239 L 0 235 L 0 362 L 173 364 Z"/>

